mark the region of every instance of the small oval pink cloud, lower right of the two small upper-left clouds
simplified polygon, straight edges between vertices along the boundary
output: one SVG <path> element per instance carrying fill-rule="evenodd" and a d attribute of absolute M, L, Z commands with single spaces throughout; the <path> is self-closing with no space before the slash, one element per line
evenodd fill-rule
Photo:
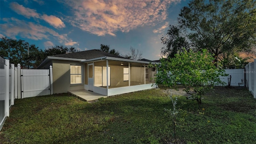
<path fill-rule="evenodd" d="M 64 22 L 62 22 L 62 20 L 60 20 L 60 18 L 58 18 L 56 16 L 52 16 L 52 15 L 48 16 L 48 15 L 44 14 L 42 16 L 42 19 L 45 20 L 46 22 L 48 22 L 54 28 L 65 28 Z"/>

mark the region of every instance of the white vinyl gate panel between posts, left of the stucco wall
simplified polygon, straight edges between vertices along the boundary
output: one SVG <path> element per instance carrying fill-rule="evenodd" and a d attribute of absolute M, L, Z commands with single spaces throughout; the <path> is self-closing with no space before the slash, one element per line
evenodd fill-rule
<path fill-rule="evenodd" d="M 21 98 L 50 94 L 49 70 L 21 70 Z"/>

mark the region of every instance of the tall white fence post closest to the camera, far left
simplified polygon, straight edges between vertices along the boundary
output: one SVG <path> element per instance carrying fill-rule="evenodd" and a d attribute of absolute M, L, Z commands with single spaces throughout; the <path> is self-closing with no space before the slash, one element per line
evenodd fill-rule
<path fill-rule="evenodd" d="M 10 112 L 9 112 L 9 106 L 10 106 L 10 103 L 9 103 L 9 98 L 10 98 L 10 81 L 9 81 L 9 68 L 10 68 L 10 60 L 5 60 L 5 69 L 6 69 L 6 101 L 5 101 L 5 109 L 6 109 L 6 116 L 9 116 Z"/>

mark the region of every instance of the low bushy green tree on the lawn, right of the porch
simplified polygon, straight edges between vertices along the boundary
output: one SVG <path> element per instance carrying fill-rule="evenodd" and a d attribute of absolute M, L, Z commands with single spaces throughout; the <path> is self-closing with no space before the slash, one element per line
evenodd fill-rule
<path fill-rule="evenodd" d="M 161 58 L 161 63 L 155 65 L 158 69 L 155 81 L 157 84 L 174 87 L 177 84 L 185 86 L 184 90 L 194 91 L 194 98 L 201 104 L 201 96 L 214 85 L 223 85 L 219 76 L 225 76 L 225 71 L 217 69 L 214 58 L 207 50 L 186 51 L 175 54 L 174 58 Z M 152 66 L 152 65 L 151 65 Z"/>

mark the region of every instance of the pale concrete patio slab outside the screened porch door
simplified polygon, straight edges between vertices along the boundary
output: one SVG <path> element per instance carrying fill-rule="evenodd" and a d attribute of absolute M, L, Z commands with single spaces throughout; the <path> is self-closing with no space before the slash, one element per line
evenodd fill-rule
<path fill-rule="evenodd" d="M 68 91 L 68 93 L 73 96 L 77 96 L 78 98 L 81 98 L 85 101 L 98 100 L 99 98 L 107 97 L 102 94 L 97 94 L 95 92 L 91 92 L 88 90 L 70 90 L 70 91 Z"/>

